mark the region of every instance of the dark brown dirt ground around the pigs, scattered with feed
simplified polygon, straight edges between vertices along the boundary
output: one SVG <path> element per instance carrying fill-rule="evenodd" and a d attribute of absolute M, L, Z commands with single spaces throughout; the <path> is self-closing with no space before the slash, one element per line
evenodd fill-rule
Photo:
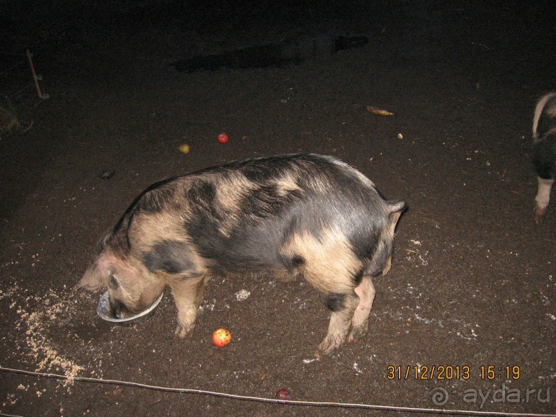
<path fill-rule="evenodd" d="M 535 100 L 556 88 L 550 2 L 32 3 L 0 4 L 2 49 L 30 48 L 50 95 L 20 106 L 21 128 L 0 134 L 0 415 L 411 414 L 74 377 L 258 398 L 288 389 L 304 402 L 556 412 L 556 205 L 535 224 L 529 159 Z M 280 68 L 172 66 L 322 34 L 369 43 Z M 72 293 L 99 238 L 154 181 L 290 152 L 337 156 L 409 204 L 391 272 L 375 278 L 364 340 L 313 358 L 329 312 L 300 281 L 216 279 L 193 336 L 178 341 L 168 291 L 153 316 L 126 326 L 96 316 L 101 294 Z M 106 170 L 114 176 L 101 179 Z M 218 327 L 233 336 L 222 349 L 212 345 Z"/>

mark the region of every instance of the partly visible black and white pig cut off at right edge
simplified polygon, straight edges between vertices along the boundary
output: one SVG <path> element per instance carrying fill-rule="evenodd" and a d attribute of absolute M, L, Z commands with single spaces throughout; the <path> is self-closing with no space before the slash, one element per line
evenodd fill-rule
<path fill-rule="evenodd" d="M 541 223 L 556 178 L 556 92 L 545 94 L 537 102 L 533 117 L 532 156 L 539 184 L 535 197 L 535 221 Z"/>

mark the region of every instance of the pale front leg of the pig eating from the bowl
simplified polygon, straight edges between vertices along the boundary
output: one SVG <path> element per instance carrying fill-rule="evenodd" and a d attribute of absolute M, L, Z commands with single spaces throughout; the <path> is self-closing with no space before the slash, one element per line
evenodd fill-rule
<path fill-rule="evenodd" d="M 185 338 L 191 335 L 195 327 L 195 318 L 205 292 L 205 278 L 185 278 L 169 284 L 176 307 L 178 307 L 178 326 L 174 338 Z"/>

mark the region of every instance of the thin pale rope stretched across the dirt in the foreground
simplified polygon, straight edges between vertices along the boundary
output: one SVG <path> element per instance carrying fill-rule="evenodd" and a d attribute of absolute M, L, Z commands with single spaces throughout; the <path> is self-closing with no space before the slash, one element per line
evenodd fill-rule
<path fill-rule="evenodd" d="M 274 404 L 298 405 L 298 406 L 307 406 L 307 407 L 361 408 L 361 409 L 375 409 L 375 410 L 383 410 L 383 411 L 406 411 L 410 413 L 451 414 L 451 415 L 460 415 L 460 416 L 556 417 L 556 414 L 502 413 L 497 411 L 472 411 L 472 410 L 457 410 L 457 409 L 395 407 L 391 405 L 371 405 L 371 404 L 357 404 L 357 403 L 330 403 L 330 402 L 321 402 L 321 401 L 278 400 L 276 398 L 263 398 L 263 397 L 254 397 L 254 396 L 243 396 L 237 394 L 226 394 L 224 392 L 216 392 L 216 391 L 205 391 L 204 389 L 159 387 L 157 385 L 133 383 L 130 381 L 123 381 L 123 380 L 89 378 L 86 376 L 65 376 L 65 375 L 48 374 L 45 372 L 32 372 L 32 371 L 25 371 L 22 369 L 12 369 L 12 368 L 5 368 L 5 367 L 0 367 L 0 372 L 11 372 L 12 374 L 23 374 L 23 375 L 30 375 L 30 376 L 39 376 L 43 378 L 62 379 L 62 380 L 68 380 L 73 382 L 80 382 L 80 383 L 123 385 L 127 387 L 151 389 L 154 391 L 166 391 L 166 392 L 177 392 L 180 394 L 199 394 L 199 395 L 207 395 L 207 396 L 216 396 L 216 397 L 230 398 L 233 400 L 253 401 L 257 403 L 274 403 Z M 1 415 L 2 414 L 0 414 L 0 416 Z"/>

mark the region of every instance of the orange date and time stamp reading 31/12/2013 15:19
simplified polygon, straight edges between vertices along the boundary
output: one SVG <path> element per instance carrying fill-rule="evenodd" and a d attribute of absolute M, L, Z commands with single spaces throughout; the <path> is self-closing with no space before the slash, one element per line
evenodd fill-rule
<path fill-rule="evenodd" d="M 481 380 L 518 380 L 521 375 L 519 365 L 390 365 L 387 367 L 389 380 L 468 380 L 473 377 Z"/>

